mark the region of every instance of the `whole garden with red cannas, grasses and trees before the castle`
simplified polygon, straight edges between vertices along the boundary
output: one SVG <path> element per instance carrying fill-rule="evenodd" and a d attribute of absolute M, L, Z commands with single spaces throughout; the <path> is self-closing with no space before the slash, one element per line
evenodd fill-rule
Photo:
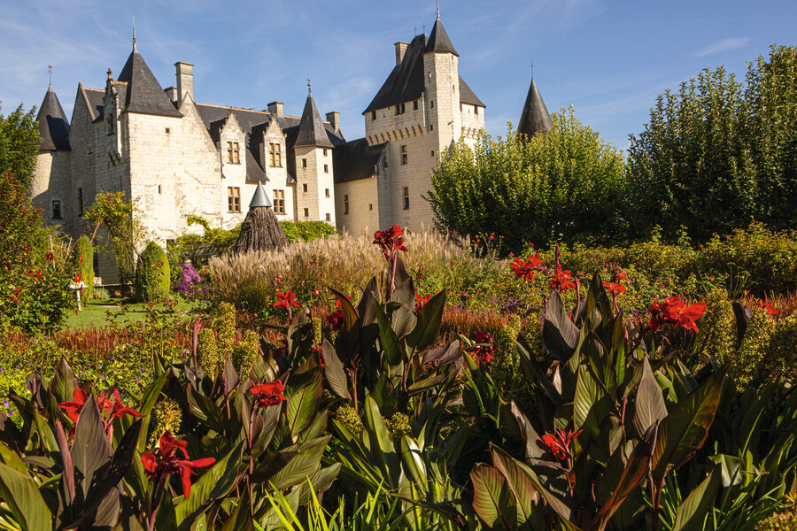
<path fill-rule="evenodd" d="M 660 97 L 627 162 L 572 110 L 460 143 L 437 230 L 270 251 L 193 216 L 164 250 L 123 194 L 73 241 L 27 196 L 35 135 L 0 142 L 0 529 L 797 528 L 790 65 L 751 105 L 720 71 Z M 749 114 L 681 158 L 700 108 Z"/>

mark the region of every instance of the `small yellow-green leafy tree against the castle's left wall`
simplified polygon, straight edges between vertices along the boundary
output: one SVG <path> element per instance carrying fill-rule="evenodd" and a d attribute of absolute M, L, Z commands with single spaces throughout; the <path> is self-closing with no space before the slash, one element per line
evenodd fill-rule
<path fill-rule="evenodd" d="M 83 211 L 89 227 L 102 227 L 101 247 L 116 257 L 123 278 L 131 278 L 135 270 L 135 252 L 146 242 L 146 230 L 134 201 L 124 192 L 97 194 L 94 203 Z"/>

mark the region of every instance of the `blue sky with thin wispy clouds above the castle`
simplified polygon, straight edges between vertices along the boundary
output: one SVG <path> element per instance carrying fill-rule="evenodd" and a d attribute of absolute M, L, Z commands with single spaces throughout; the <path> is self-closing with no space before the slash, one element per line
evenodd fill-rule
<path fill-rule="evenodd" d="M 460 75 L 487 105 L 487 131 L 520 118 L 534 77 L 548 110 L 576 118 L 617 147 L 643 130 L 655 97 L 702 68 L 743 80 L 772 43 L 793 45 L 794 0 L 441 0 L 460 53 Z M 364 135 L 362 111 L 391 72 L 394 42 L 429 33 L 435 3 L 360 0 L 169 2 L 45 0 L 0 3 L 3 112 L 39 105 L 52 84 L 72 116 L 78 81 L 104 88 L 105 71 L 138 50 L 163 87 L 174 63 L 194 66 L 198 103 L 265 109 L 280 100 L 300 115 L 307 78 L 321 113 L 341 112 L 346 138 Z"/>

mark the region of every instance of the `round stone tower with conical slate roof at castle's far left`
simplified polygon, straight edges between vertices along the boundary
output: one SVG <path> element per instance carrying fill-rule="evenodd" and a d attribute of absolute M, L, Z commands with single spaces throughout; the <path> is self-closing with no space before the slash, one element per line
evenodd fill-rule
<path fill-rule="evenodd" d="M 52 85 L 44 95 L 36 121 L 41 140 L 30 194 L 34 206 L 43 209 L 44 219 L 61 225 L 76 212 L 69 204 L 74 195 L 69 175 L 69 120 Z"/>

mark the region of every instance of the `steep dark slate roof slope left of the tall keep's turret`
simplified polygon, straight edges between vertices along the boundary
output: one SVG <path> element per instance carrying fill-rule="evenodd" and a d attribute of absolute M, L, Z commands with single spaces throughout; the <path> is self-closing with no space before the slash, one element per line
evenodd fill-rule
<path fill-rule="evenodd" d="M 362 113 L 384 109 L 419 99 L 423 93 L 423 51 L 426 35 L 416 35 L 404 51 L 404 58 L 396 65 Z"/>

